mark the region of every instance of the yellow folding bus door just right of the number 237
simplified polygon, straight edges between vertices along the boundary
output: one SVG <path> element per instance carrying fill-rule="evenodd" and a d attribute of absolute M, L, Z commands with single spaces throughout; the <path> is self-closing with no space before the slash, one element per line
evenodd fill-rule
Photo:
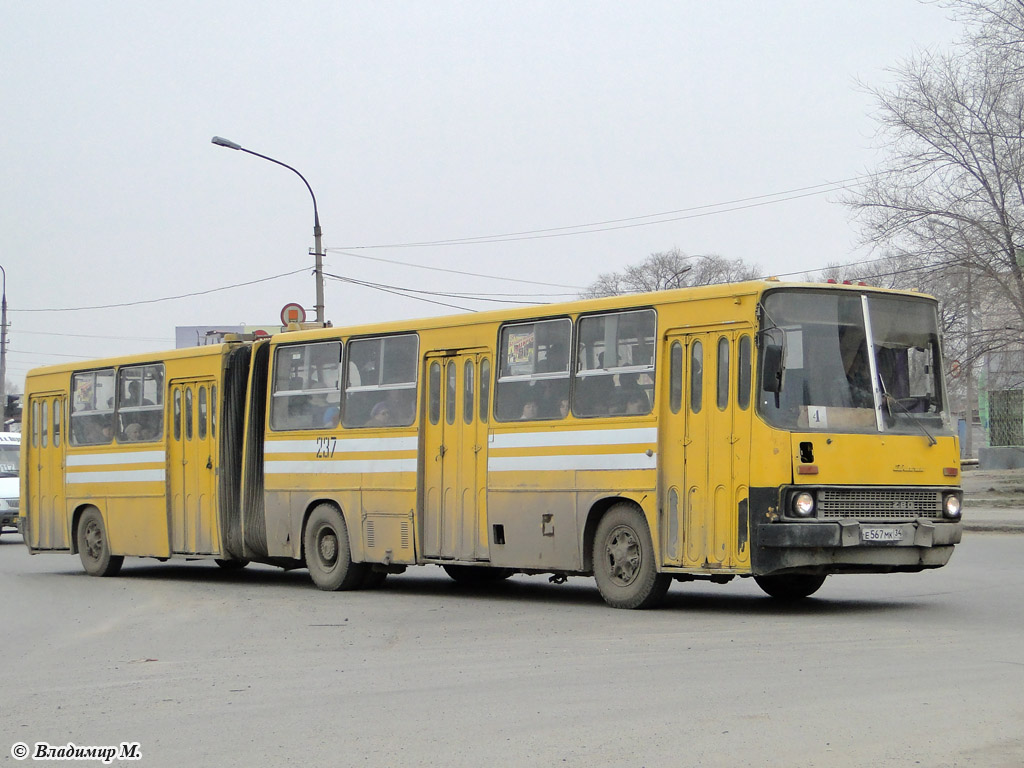
<path fill-rule="evenodd" d="M 423 554 L 487 560 L 489 360 L 473 351 L 428 353 L 426 359 Z"/>

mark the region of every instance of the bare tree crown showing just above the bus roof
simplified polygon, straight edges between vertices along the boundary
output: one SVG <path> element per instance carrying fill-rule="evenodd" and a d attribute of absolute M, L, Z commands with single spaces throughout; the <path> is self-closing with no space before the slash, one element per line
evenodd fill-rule
<path fill-rule="evenodd" d="M 678 248 L 652 253 L 621 272 L 604 272 L 581 293 L 583 298 L 617 296 L 626 293 L 664 291 L 687 286 L 709 286 L 753 280 L 760 273 L 756 264 L 718 255 L 688 256 Z"/>

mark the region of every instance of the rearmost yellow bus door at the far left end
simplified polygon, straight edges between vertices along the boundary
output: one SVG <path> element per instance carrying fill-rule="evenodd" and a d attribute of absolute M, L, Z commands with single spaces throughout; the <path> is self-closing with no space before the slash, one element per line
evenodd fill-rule
<path fill-rule="evenodd" d="M 31 515 L 29 545 L 33 549 L 68 549 L 68 515 L 65 502 L 65 397 L 58 392 L 29 398 L 29 440 L 25 477 L 29 481 Z"/>

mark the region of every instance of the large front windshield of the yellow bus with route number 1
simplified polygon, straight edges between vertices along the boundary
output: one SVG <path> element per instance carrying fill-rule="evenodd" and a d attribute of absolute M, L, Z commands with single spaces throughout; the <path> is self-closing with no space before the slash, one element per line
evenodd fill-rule
<path fill-rule="evenodd" d="M 774 360 L 781 357 L 781 365 Z M 777 291 L 763 302 L 759 409 L 784 429 L 948 434 L 935 304 Z M 777 391 L 776 391 L 777 390 Z"/>

